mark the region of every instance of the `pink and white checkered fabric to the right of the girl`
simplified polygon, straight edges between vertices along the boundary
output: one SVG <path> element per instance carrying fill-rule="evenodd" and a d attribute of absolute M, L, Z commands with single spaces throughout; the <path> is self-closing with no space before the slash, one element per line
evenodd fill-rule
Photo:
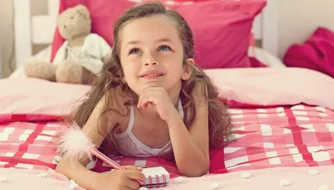
<path fill-rule="evenodd" d="M 235 140 L 221 151 L 225 154 L 212 156 L 212 172 L 334 164 L 332 110 L 295 105 L 230 112 Z M 224 166 L 217 155 L 224 157 Z"/>

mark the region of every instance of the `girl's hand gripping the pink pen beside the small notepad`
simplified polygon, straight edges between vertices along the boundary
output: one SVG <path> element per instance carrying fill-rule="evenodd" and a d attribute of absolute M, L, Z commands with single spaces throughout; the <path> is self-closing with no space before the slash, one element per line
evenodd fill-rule
<path fill-rule="evenodd" d="M 97 173 L 95 189 L 129 190 L 139 189 L 140 184 L 136 180 L 145 181 L 145 175 L 141 173 L 141 167 L 124 166 L 126 170 L 116 169 L 105 173 Z"/>

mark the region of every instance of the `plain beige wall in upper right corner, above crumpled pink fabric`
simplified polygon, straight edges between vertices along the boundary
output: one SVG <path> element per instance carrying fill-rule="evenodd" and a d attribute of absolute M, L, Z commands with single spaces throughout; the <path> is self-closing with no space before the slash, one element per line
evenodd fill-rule
<path fill-rule="evenodd" d="M 269 0 L 272 1 L 272 0 Z M 333 0 L 277 0 L 279 55 L 292 43 L 303 43 L 318 26 L 334 31 Z"/>

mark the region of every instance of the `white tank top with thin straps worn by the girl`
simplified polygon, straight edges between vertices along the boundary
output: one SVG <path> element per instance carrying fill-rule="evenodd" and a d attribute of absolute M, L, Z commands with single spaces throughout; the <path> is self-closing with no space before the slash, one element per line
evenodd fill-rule
<path fill-rule="evenodd" d="M 181 99 L 178 103 L 180 116 L 184 117 Z M 162 148 L 151 148 L 143 144 L 132 133 L 134 126 L 134 106 L 130 107 L 129 125 L 127 130 L 120 134 L 116 134 L 116 144 L 120 149 L 120 154 L 125 157 L 161 157 L 173 151 L 170 141 Z"/>

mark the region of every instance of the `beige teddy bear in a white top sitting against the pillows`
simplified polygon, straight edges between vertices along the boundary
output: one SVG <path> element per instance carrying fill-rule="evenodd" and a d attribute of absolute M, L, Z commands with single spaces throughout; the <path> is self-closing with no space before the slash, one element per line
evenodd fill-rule
<path fill-rule="evenodd" d="M 24 64 L 25 76 L 59 83 L 90 83 L 102 71 L 111 46 L 100 35 L 91 33 L 90 12 L 84 5 L 61 12 L 57 27 L 65 42 L 53 62 L 29 60 Z"/>

